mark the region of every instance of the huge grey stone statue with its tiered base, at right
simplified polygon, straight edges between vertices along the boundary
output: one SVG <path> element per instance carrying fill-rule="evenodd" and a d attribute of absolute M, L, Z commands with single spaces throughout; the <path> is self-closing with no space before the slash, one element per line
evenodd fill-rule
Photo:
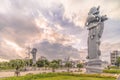
<path fill-rule="evenodd" d="M 100 7 L 92 7 L 88 13 L 85 26 L 88 29 L 88 56 L 89 60 L 86 64 L 87 73 L 101 73 L 102 61 L 100 60 L 101 51 L 100 38 L 104 29 L 104 21 L 107 20 L 106 15 L 100 15 Z"/>

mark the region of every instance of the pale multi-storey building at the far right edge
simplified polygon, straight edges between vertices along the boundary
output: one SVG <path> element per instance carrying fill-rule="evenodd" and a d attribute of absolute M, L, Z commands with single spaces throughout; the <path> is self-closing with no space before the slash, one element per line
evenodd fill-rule
<path fill-rule="evenodd" d="M 117 57 L 120 57 L 120 51 L 113 51 L 110 53 L 111 65 L 115 65 Z"/>

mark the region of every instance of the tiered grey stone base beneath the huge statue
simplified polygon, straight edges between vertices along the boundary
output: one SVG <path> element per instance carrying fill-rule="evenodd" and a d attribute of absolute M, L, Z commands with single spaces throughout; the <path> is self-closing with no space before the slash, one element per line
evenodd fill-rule
<path fill-rule="evenodd" d="M 100 59 L 89 60 L 86 64 L 86 73 L 102 73 L 103 69 Z"/>

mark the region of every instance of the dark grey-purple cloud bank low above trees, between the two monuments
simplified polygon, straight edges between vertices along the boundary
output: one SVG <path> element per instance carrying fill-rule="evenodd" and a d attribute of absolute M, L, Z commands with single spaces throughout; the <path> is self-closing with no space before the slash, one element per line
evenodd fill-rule
<path fill-rule="evenodd" d="M 44 41 L 34 45 L 38 49 L 38 55 L 46 56 L 51 59 L 65 59 L 72 58 L 74 60 L 80 59 L 79 51 L 71 46 L 63 46 L 59 43 L 49 43 Z"/>

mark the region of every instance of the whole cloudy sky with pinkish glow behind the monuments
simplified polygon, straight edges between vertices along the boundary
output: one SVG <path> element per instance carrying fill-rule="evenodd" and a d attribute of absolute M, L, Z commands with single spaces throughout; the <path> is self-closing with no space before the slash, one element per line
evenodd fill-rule
<path fill-rule="evenodd" d="M 26 47 L 36 47 L 48 59 L 85 59 L 88 11 L 100 5 L 106 14 L 101 51 L 103 60 L 120 50 L 119 0 L 0 0 L 0 57 L 24 58 Z"/>

